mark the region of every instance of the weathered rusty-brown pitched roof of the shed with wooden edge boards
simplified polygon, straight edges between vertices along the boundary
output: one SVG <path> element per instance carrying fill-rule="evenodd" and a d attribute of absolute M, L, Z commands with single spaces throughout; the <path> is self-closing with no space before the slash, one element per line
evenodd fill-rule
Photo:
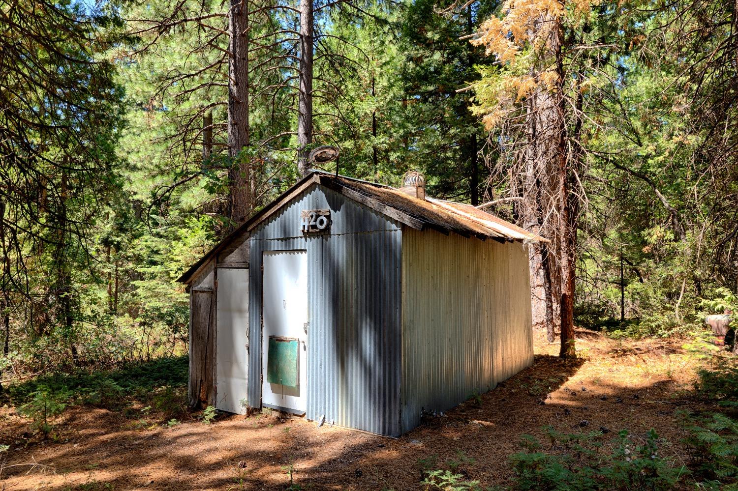
<path fill-rule="evenodd" d="M 297 184 L 264 206 L 246 223 L 235 229 L 224 240 L 221 240 L 210 252 L 185 271 L 177 281 L 189 282 L 192 276 L 210 258 L 218 254 L 235 237 L 254 229 L 259 223 L 312 184 L 320 184 L 328 189 L 333 189 L 346 198 L 362 203 L 370 209 L 404 223 L 404 225 L 413 229 L 433 229 L 443 234 L 455 232 L 463 237 L 477 237 L 481 240 L 494 239 L 501 242 L 507 240 L 548 241 L 537 234 L 521 229 L 519 226 L 465 203 L 455 203 L 430 197 L 421 200 L 385 184 L 362 181 L 345 175 L 334 175 L 323 170 L 311 170 L 311 173 L 298 181 Z"/>

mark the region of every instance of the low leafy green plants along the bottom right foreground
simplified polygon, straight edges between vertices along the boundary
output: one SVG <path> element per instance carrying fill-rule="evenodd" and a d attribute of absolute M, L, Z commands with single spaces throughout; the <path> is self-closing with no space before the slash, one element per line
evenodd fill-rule
<path fill-rule="evenodd" d="M 523 451 L 508 458 L 514 478 L 508 487 L 483 488 L 470 477 L 473 459 L 447 461 L 437 456 L 418 459 L 425 490 L 444 491 L 666 491 L 697 489 L 738 490 L 738 421 L 724 414 L 679 414 L 683 438 L 668 442 L 655 430 L 632 435 L 622 430 L 615 438 L 601 431 L 562 433 L 545 427 L 546 439 L 524 435 Z M 688 458 L 662 453 L 673 443 L 686 448 Z M 468 472 L 469 471 L 469 472 Z"/>

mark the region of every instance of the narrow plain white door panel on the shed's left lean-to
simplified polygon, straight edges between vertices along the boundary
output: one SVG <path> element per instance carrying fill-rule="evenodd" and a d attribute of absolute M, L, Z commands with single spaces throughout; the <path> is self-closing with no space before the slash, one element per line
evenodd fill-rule
<path fill-rule="evenodd" d="M 249 270 L 218 269 L 215 408 L 246 414 L 249 370 Z"/>

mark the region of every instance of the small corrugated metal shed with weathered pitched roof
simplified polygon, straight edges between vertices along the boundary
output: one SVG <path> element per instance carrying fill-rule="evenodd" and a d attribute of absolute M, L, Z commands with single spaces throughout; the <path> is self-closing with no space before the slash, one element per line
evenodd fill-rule
<path fill-rule="evenodd" d="M 330 210 L 330 230 L 303 234 L 301 212 L 308 210 Z M 307 344 L 307 381 L 298 396 L 306 396 L 306 405 L 269 403 L 397 436 L 415 428 L 423 411 L 446 411 L 532 363 L 525 243 L 537 240 L 545 239 L 473 206 L 315 171 L 180 281 L 217 279 L 221 260 L 249 268 L 248 403 L 261 407 L 269 335 L 269 328 L 262 332 L 263 254 L 306 251 L 300 291 L 307 290 L 308 332 L 300 339 Z M 305 271 L 284 268 L 267 268 L 269 279 Z M 269 312 L 302 311 L 304 304 L 288 308 L 280 299 L 304 296 L 285 295 L 277 304 L 286 310 Z M 288 324 L 295 321 L 280 325 Z M 266 390 L 272 394 L 272 386 Z"/>

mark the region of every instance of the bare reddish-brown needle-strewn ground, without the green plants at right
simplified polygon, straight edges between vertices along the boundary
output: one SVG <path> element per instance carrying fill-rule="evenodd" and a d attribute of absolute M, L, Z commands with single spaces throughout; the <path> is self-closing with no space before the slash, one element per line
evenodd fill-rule
<path fill-rule="evenodd" d="M 578 330 L 581 358 L 564 363 L 557 344 L 535 336 L 534 366 L 399 439 L 269 414 L 135 428 L 117 413 L 72 408 L 55 421 L 60 442 L 18 446 L 28 422 L 4 408 L 0 443 L 11 449 L 0 490 L 285 490 L 292 466 L 303 489 L 399 491 L 421 489 L 419 459 L 443 468 L 459 455 L 475 461 L 463 473 L 491 486 L 511 476 L 506 459 L 521 450 L 520 436 L 545 425 L 634 436 L 655 428 L 678 442 L 675 411 L 702 409 L 691 397 L 696 362 L 680 341 Z M 677 443 L 662 453 L 683 458 Z"/>

